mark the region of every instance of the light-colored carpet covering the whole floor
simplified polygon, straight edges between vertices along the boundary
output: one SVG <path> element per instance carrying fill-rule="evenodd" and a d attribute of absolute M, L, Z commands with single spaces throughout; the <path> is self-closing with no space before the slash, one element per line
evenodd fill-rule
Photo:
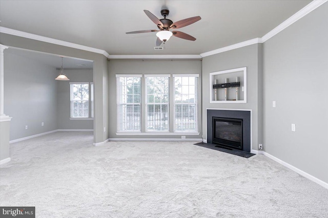
<path fill-rule="evenodd" d="M 57 132 L 11 144 L 1 206 L 36 217 L 328 217 L 328 190 L 271 159 L 195 142 L 109 142 Z"/>

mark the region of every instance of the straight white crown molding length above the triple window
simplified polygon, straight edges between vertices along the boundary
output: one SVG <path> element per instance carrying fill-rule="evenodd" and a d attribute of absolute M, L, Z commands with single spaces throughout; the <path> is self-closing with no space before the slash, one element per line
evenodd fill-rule
<path fill-rule="evenodd" d="M 200 55 L 109 55 L 109 59 L 201 59 Z"/>

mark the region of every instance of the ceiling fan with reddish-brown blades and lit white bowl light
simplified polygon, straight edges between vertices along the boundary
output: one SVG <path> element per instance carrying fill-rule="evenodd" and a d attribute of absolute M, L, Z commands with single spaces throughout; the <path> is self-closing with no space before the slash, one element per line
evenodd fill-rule
<path fill-rule="evenodd" d="M 154 14 L 151 12 L 144 10 L 146 15 L 157 25 L 159 30 L 140 30 L 140 31 L 133 31 L 133 32 L 127 32 L 126 34 L 133 34 L 133 33 L 150 33 L 150 32 L 157 32 L 157 40 L 156 40 L 156 46 L 160 46 L 162 42 L 166 42 L 167 40 L 170 39 L 170 37 L 173 35 L 175 37 L 179 37 L 182 39 L 187 39 L 191 41 L 195 41 L 196 38 L 188 35 L 187 33 L 183 33 L 180 31 L 175 31 L 173 29 L 178 29 L 182 27 L 186 27 L 188 25 L 191 25 L 198 20 L 201 19 L 200 16 L 195 16 L 195 17 L 189 17 L 186 19 L 182 19 L 179 21 L 176 21 L 173 23 L 172 20 L 167 19 L 166 17 L 169 15 L 169 10 L 168 9 L 163 9 L 160 11 L 160 14 L 164 17 L 163 19 L 158 19 Z M 173 30 L 172 32 L 170 30 Z"/>

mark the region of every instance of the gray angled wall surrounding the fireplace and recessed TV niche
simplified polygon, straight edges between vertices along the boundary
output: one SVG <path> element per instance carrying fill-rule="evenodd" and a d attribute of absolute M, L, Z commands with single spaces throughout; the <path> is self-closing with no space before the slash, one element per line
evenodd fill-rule
<path fill-rule="evenodd" d="M 255 44 L 204 57 L 202 61 L 202 132 L 206 139 L 206 108 L 248 109 L 253 111 L 252 149 L 262 143 L 262 45 Z M 210 73 L 247 67 L 247 103 L 210 103 Z"/>

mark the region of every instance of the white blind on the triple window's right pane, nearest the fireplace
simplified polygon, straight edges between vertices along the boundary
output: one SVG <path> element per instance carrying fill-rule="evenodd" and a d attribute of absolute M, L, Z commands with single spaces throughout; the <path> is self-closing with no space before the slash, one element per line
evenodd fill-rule
<path fill-rule="evenodd" d="M 174 74 L 174 132 L 198 132 L 198 74 Z"/>

